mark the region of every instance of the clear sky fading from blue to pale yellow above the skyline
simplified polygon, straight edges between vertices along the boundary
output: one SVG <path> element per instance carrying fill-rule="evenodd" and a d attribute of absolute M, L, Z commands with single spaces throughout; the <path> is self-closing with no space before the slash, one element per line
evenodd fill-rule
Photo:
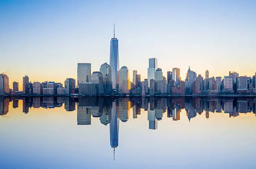
<path fill-rule="evenodd" d="M 119 40 L 120 68 L 147 78 L 148 58 L 163 75 L 188 67 L 205 77 L 256 72 L 255 0 L 90 1 L 1 0 L 0 73 L 10 88 L 33 81 L 77 79 L 77 63 L 92 72 L 109 63 L 110 40 Z"/>

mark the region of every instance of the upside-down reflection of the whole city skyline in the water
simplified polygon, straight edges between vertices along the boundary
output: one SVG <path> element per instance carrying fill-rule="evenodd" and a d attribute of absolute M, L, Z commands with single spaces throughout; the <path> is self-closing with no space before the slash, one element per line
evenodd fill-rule
<path fill-rule="evenodd" d="M 33 108 L 55 108 L 64 103 L 66 111 L 75 111 L 77 103 L 77 125 L 91 125 L 92 118 L 100 120 L 100 123 L 109 124 L 110 146 L 118 147 L 119 121 L 127 123 L 130 118 L 130 108 L 133 108 L 132 117 L 137 119 L 141 113 L 147 113 L 148 129 L 158 129 L 158 123 L 164 118 L 172 118 L 173 121 L 181 120 L 181 113 L 186 113 L 188 121 L 205 111 L 205 118 L 209 119 L 212 113 L 229 114 L 229 117 L 237 117 L 239 114 L 256 114 L 256 98 L 109 98 L 109 97 L 0 97 L 0 115 L 7 116 L 9 103 L 13 102 L 13 108 L 18 108 L 19 100 L 22 100 L 22 112 L 28 114 Z M 141 112 L 141 109 L 144 111 Z M 167 113 L 166 113 L 167 112 Z M 221 116 L 223 117 L 223 116 Z"/>

